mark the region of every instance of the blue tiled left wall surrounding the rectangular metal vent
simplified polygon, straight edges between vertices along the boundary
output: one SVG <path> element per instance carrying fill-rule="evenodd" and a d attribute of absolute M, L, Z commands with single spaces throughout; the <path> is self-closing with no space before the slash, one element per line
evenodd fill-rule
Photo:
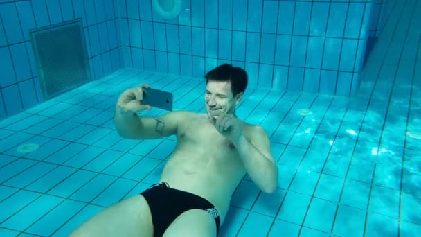
<path fill-rule="evenodd" d="M 92 78 L 123 66 L 117 1 L 0 1 L 0 119 L 44 101 L 29 30 L 82 18 Z"/>

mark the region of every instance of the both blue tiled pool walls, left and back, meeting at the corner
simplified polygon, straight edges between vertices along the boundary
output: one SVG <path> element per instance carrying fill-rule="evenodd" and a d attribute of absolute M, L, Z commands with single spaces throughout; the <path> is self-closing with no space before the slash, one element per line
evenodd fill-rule
<path fill-rule="evenodd" d="M 82 18 L 93 78 L 121 67 L 201 77 L 228 62 L 250 87 L 350 96 L 395 3 L 185 0 L 163 19 L 151 0 L 1 1 L 0 119 L 43 101 L 33 28 Z"/>

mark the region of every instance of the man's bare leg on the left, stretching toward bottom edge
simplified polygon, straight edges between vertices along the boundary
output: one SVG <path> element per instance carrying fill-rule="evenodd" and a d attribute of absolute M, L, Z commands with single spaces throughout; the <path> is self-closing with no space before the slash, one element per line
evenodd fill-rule
<path fill-rule="evenodd" d="M 152 216 L 142 195 L 121 200 L 84 222 L 70 235 L 153 236 Z"/>

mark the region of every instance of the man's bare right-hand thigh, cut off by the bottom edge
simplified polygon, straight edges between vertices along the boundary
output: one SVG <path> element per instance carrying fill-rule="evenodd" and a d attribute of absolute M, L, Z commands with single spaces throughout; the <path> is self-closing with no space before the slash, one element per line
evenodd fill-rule
<path fill-rule="evenodd" d="M 215 219 L 208 212 L 192 209 L 183 212 L 168 227 L 163 237 L 215 237 Z"/>

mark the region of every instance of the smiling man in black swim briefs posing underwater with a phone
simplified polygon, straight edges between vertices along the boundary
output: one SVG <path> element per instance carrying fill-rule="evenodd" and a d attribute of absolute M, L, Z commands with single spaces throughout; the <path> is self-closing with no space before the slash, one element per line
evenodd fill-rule
<path fill-rule="evenodd" d="M 260 125 L 235 116 L 247 73 L 223 64 L 206 74 L 206 114 L 136 115 L 143 87 L 118 99 L 115 123 L 129 139 L 177 135 L 177 147 L 159 184 L 98 213 L 72 236 L 217 236 L 231 195 L 246 173 L 265 193 L 276 190 L 278 170 L 269 137 Z"/>

